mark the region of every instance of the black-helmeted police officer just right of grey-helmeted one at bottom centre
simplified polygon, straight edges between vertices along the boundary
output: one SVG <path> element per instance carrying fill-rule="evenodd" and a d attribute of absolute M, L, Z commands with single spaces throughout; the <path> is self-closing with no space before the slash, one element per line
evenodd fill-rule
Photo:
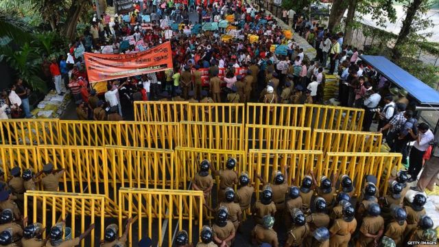
<path fill-rule="evenodd" d="M 294 209 L 292 215 L 293 226 L 289 228 L 287 233 L 287 242 L 285 247 L 301 246 L 305 237 L 309 235 L 309 226 L 305 218 L 305 214 L 300 209 Z"/>

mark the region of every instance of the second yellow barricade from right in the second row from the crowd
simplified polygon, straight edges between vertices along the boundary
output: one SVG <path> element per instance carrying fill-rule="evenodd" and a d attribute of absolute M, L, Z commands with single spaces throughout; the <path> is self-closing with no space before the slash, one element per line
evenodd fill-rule
<path fill-rule="evenodd" d="M 311 128 L 246 124 L 246 150 L 309 150 Z"/>

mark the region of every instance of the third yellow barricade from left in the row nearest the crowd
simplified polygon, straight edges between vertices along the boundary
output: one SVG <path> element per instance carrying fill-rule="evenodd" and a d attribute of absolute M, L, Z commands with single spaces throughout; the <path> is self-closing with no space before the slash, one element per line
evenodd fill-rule
<path fill-rule="evenodd" d="M 246 124 L 297 126 L 305 124 L 303 105 L 247 103 Z"/>

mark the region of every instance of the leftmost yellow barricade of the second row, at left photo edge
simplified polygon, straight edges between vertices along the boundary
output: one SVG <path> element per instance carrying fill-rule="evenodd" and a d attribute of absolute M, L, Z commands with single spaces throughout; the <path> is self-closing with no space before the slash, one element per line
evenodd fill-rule
<path fill-rule="evenodd" d="M 56 145 L 58 119 L 1 120 L 0 137 L 3 145 Z"/>

